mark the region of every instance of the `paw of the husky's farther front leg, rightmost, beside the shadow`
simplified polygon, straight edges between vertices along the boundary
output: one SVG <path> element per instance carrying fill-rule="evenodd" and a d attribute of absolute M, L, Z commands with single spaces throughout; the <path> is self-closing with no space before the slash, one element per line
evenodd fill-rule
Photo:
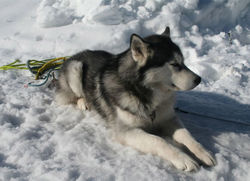
<path fill-rule="evenodd" d="M 199 147 L 198 151 L 196 151 L 195 156 L 199 158 L 203 163 L 207 166 L 215 166 L 216 160 L 215 158 L 202 146 Z"/>

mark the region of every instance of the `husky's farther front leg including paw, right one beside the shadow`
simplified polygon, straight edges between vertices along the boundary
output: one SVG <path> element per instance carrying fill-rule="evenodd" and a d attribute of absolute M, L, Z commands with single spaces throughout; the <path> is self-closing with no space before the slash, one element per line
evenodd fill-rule
<path fill-rule="evenodd" d="M 181 124 L 177 117 L 170 120 L 168 125 L 171 125 L 170 129 L 172 130 L 170 132 L 176 142 L 185 145 L 198 159 L 200 159 L 206 165 L 216 165 L 216 161 L 213 156 L 192 137 L 192 135 Z M 169 127 L 167 129 L 168 131 L 170 130 Z"/>

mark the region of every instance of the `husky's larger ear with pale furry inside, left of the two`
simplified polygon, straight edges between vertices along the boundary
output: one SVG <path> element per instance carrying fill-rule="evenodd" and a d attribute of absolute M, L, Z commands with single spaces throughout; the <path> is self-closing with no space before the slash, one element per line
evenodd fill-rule
<path fill-rule="evenodd" d="M 140 36 L 133 34 L 130 38 L 130 50 L 134 61 L 140 66 L 145 65 L 148 58 L 148 43 Z"/>

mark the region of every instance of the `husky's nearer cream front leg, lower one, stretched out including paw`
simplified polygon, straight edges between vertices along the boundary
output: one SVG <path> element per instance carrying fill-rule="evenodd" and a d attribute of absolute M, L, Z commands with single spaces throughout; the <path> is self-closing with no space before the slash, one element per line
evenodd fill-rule
<path fill-rule="evenodd" d="M 196 161 L 177 147 L 169 144 L 163 138 L 149 134 L 142 129 L 119 131 L 117 139 L 122 144 L 131 146 L 141 152 L 158 155 L 170 161 L 176 168 L 184 171 L 194 171 L 199 168 Z"/>

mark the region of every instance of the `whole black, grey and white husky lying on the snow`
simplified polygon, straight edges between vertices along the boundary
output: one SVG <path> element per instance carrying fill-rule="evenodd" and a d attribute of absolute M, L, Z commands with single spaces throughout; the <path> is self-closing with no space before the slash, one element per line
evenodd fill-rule
<path fill-rule="evenodd" d="M 133 34 L 130 48 L 118 55 L 91 50 L 73 55 L 62 66 L 56 100 L 99 113 L 121 144 L 158 155 L 180 170 L 194 171 L 198 160 L 207 166 L 216 161 L 183 126 L 174 103 L 176 91 L 193 89 L 200 82 L 185 66 L 167 27 L 161 35 Z"/>

